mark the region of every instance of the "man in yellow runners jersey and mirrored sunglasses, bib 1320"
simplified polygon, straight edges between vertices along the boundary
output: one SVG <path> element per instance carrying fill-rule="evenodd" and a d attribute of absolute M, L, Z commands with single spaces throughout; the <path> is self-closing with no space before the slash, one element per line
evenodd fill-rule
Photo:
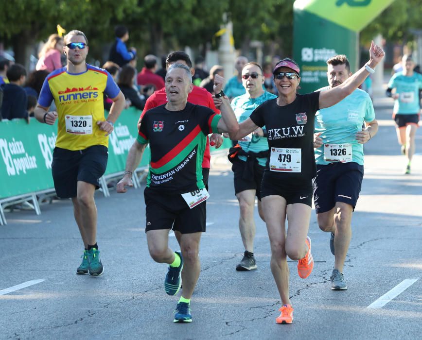
<path fill-rule="evenodd" d="M 64 37 L 67 65 L 50 73 L 41 89 L 35 118 L 49 125 L 58 119 L 52 172 L 57 196 L 71 198 L 85 250 L 78 274 L 104 272 L 96 241 L 95 189 L 107 165 L 108 135 L 122 112 L 123 93 L 104 69 L 85 62 L 88 39 L 81 31 Z M 103 93 L 113 104 L 104 117 Z M 57 111 L 49 111 L 54 101 Z"/>

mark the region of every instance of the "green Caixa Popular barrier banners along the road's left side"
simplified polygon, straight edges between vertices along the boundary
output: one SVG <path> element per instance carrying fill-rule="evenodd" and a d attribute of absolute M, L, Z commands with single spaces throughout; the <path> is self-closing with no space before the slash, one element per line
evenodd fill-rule
<path fill-rule="evenodd" d="M 114 131 L 108 139 L 108 163 L 105 175 L 121 172 L 126 165 L 127 154 L 138 135 L 138 119 L 141 111 L 123 110 Z M 57 137 L 57 124 L 40 124 L 31 119 L 0 121 L 0 199 L 35 191 L 52 189 L 51 163 Z M 229 139 L 223 148 L 231 147 Z M 215 148 L 211 147 L 211 153 Z M 147 166 L 150 159 L 149 146 L 145 149 L 139 167 Z"/>

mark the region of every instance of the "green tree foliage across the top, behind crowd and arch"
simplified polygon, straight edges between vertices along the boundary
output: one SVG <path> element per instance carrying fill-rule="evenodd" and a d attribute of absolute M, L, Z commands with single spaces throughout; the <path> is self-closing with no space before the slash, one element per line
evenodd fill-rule
<path fill-rule="evenodd" d="M 264 42 L 271 53 L 289 55 L 293 45 L 294 0 L 4 0 L 0 1 L 0 41 L 12 46 L 17 60 L 34 52 L 60 24 L 84 31 L 90 57 L 103 60 L 103 47 L 114 40 L 114 26 L 129 28 L 129 45 L 140 54 L 162 54 L 190 46 L 216 49 L 215 33 L 226 13 L 233 23 L 235 48 L 247 54 L 252 40 Z M 407 41 L 410 28 L 422 28 L 420 0 L 397 0 L 361 33 L 368 42 L 375 34 Z M 26 50 L 22 50 L 22 46 Z M 23 55 L 19 55 L 23 54 Z M 104 60 L 103 60 L 104 61 Z"/>

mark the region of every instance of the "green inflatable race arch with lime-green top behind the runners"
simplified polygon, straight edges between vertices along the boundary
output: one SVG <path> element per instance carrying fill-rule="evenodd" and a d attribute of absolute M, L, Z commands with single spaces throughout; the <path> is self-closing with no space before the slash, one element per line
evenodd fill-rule
<path fill-rule="evenodd" d="M 393 0 L 296 0 L 293 57 L 300 68 L 300 93 L 327 86 L 327 60 L 346 54 L 359 68 L 359 32 Z"/>

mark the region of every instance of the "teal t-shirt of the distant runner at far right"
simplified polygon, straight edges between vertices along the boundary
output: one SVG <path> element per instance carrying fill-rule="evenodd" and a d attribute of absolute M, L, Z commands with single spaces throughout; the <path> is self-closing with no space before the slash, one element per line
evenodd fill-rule
<path fill-rule="evenodd" d="M 388 82 L 389 88 L 395 88 L 399 99 L 394 101 L 394 113 L 401 115 L 412 115 L 419 113 L 421 101 L 419 99 L 419 90 L 422 89 L 422 75 L 413 72 L 408 77 L 403 72 L 394 74 Z"/>

